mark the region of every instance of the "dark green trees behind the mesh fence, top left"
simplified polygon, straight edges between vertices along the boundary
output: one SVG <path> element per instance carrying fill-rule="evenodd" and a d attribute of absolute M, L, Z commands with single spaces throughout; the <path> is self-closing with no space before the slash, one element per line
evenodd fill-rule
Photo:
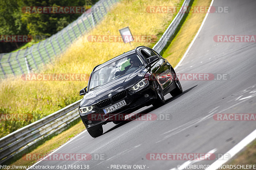
<path fill-rule="evenodd" d="M 25 13 L 25 7 L 38 6 L 85 6 L 98 0 L 0 0 L 0 35 L 51 36 L 82 13 Z M 24 43 L 0 42 L 0 53 L 10 52 Z"/>

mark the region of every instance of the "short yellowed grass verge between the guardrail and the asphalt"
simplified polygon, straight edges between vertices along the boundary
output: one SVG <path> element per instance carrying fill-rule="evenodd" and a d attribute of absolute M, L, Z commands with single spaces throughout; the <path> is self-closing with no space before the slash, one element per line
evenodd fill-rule
<path fill-rule="evenodd" d="M 124 3 L 125 2 L 126 1 L 124 1 Z M 203 0 L 195 0 L 193 2 L 193 5 L 195 5 L 195 6 L 210 5 L 210 2 L 211 2 L 210 0 L 207 1 L 207 2 L 205 2 Z M 182 4 L 182 2 L 180 2 L 180 3 Z M 193 15 L 193 16 L 191 16 L 191 15 Z M 181 44 L 190 44 L 190 42 L 194 38 L 194 37 L 192 37 L 192 35 L 190 35 L 190 33 L 194 34 L 194 35 L 196 34 L 197 30 L 199 29 L 199 27 L 200 27 L 200 25 L 203 21 L 204 15 L 205 14 L 200 14 L 200 15 L 198 15 L 198 14 L 188 14 L 188 16 L 183 20 L 182 24 L 180 24 L 180 29 L 177 31 L 177 33 L 175 35 L 178 36 L 179 38 L 188 37 L 188 36 L 190 38 L 182 38 L 182 41 L 184 41 L 184 42 L 182 42 Z M 174 18 L 174 15 L 172 16 L 172 18 Z M 169 24 L 170 24 L 170 22 L 171 21 L 169 21 Z M 192 32 L 186 31 L 188 25 L 190 25 L 193 28 Z M 166 28 L 167 27 L 165 25 L 164 29 L 166 29 Z M 161 33 L 164 33 L 164 31 L 165 30 L 162 30 Z M 159 36 L 161 35 L 161 33 L 159 33 Z M 172 51 L 172 48 L 175 49 L 175 47 L 176 47 L 175 44 L 178 45 L 180 43 L 178 38 L 173 37 L 172 39 L 173 39 L 172 43 L 170 43 L 169 46 L 167 48 L 165 48 L 165 51 L 164 51 L 165 54 L 169 54 L 168 52 Z M 151 45 L 151 47 L 152 47 L 154 45 L 154 43 L 148 44 L 148 45 Z M 172 45 L 172 47 L 170 47 L 170 45 Z M 185 48 L 184 50 L 186 50 L 187 47 L 186 46 L 180 46 L 180 48 Z M 182 55 L 183 54 L 181 54 L 178 57 L 182 57 Z M 176 58 L 172 58 L 169 55 L 167 55 L 166 57 L 169 57 L 168 60 L 170 60 L 171 63 L 173 63 L 176 60 Z M 96 65 L 96 63 L 94 65 Z M 176 64 L 173 64 L 173 66 L 175 66 L 175 65 Z M 81 87 L 83 87 L 83 86 L 81 85 Z M 76 131 L 77 129 L 78 129 L 78 131 Z M 34 151 L 32 151 L 30 153 L 45 153 L 45 154 L 50 153 L 53 149 L 59 147 L 61 144 L 64 144 L 66 141 L 68 141 L 70 138 L 74 137 L 76 134 L 78 134 L 83 129 L 84 129 L 84 125 L 80 121 L 78 124 L 71 127 L 70 129 L 66 130 L 65 132 L 62 132 L 60 135 L 58 135 L 56 137 L 53 137 L 49 141 L 46 141 L 44 144 L 38 146 Z M 73 131 L 74 131 L 74 133 L 72 133 Z M 32 165 L 35 162 L 36 161 L 24 161 L 24 159 L 19 159 L 19 160 L 15 161 L 13 163 L 13 165 Z"/>

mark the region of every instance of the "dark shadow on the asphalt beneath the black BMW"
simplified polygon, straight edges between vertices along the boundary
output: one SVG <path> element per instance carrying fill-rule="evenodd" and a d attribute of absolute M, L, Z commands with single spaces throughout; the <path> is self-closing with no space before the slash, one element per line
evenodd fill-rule
<path fill-rule="evenodd" d="M 180 95 L 178 95 L 178 96 L 176 96 L 176 97 L 171 97 L 171 98 L 165 100 L 165 104 L 170 103 L 172 100 L 175 100 L 176 98 L 178 98 L 178 97 L 184 95 L 185 93 L 187 93 L 187 92 L 189 92 L 190 90 L 194 89 L 196 86 L 197 86 L 197 85 L 195 85 L 195 86 L 193 86 L 193 87 L 190 87 L 189 89 L 183 91 Z M 141 112 L 139 112 L 139 113 L 136 113 L 136 114 L 132 115 L 131 117 L 129 117 L 129 120 L 126 119 L 125 121 L 123 121 L 123 122 L 117 124 L 117 125 L 114 126 L 113 128 L 108 129 L 108 130 L 107 130 L 106 132 L 104 132 L 103 134 L 108 133 L 108 132 L 110 132 L 110 131 L 112 131 L 112 130 L 114 130 L 114 129 L 116 129 L 116 128 L 119 128 L 120 126 L 123 126 L 123 125 L 125 125 L 126 123 L 129 123 L 129 122 L 131 122 L 131 121 L 133 121 L 133 120 L 135 120 L 135 119 L 137 119 L 137 118 L 140 118 L 141 116 L 146 115 L 146 114 L 148 114 L 149 112 L 151 112 L 151 111 L 153 111 L 153 110 L 155 110 L 155 109 L 156 109 L 156 108 L 153 107 L 153 106 L 151 106 L 151 107 L 149 107 L 149 108 L 146 108 L 145 110 L 143 110 L 143 111 L 141 111 Z"/>

